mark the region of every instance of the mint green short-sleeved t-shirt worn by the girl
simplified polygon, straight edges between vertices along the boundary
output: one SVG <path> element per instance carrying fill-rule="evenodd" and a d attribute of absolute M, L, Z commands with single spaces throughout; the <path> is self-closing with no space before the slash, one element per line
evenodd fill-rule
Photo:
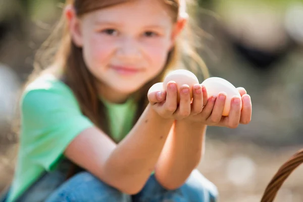
<path fill-rule="evenodd" d="M 43 172 L 56 169 L 68 144 L 93 126 L 81 113 L 71 89 L 52 75 L 44 75 L 28 85 L 20 105 L 20 147 L 9 202 Z M 132 127 L 136 105 L 130 99 L 121 105 L 105 102 L 105 106 L 113 138 L 120 141 Z"/>

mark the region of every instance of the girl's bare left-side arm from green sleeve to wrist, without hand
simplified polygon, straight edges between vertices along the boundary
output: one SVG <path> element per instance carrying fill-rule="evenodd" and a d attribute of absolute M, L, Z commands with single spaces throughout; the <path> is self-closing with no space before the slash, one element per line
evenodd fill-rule
<path fill-rule="evenodd" d="M 97 128 L 89 128 L 68 145 L 65 156 L 109 185 L 135 194 L 154 170 L 172 124 L 173 120 L 161 118 L 148 105 L 119 144 Z"/>

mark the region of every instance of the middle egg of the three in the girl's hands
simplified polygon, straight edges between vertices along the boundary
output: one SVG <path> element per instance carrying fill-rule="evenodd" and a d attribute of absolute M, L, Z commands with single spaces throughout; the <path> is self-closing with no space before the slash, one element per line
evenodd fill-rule
<path fill-rule="evenodd" d="M 190 97 L 193 97 L 192 95 L 192 86 L 194 84 L 198 84 L 199 81 L 197 77 L 190 71 L 180 69 L 180 70 L 174 70 L 168 73 L 168 75 L 165 77 L 163 81 L 163 88 L 167 90 L 167 84 L 170 81 L 175 81 L 178 87 L 178 102 L 180 100 L 180 87 L 184 84 L 187 84 L 189 86 L 190 90 Z"/>

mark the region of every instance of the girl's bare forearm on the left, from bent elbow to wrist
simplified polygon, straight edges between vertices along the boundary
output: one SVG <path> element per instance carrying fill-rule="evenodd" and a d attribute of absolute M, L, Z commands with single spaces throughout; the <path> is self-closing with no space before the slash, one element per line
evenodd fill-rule
<path fill-rule="evenodd" d="M 139 191 L 153 172 L 173 120 L 161 118 L 150 106 L 109 156 L 104 175 L 121 187 Z"/>

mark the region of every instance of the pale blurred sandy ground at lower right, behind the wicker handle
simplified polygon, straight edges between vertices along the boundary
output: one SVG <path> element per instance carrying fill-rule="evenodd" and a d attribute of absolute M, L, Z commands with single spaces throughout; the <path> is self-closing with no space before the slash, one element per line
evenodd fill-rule
<path fill-rule="evenodd" d="M 257 202 L 279 167 L 300 148 L 303 145 L 276 149 L 246 142 L 210 140 L 199 170 L 217 185 L 219 201 Z M 290 175 L 275 202 L 303 201 L 302 171 L 299 167 Z"/>

